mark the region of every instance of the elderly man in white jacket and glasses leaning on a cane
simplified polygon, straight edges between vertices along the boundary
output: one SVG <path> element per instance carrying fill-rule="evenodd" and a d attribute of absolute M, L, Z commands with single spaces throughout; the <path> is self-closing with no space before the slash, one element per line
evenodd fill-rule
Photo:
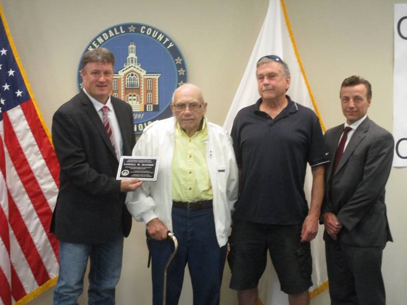
<path fill-rule="evenodd" d="M 231 138 L 204 116 L 199 87 L 184 84 L 171 102 L 173 117 L 144 129 L 133 156 L 159 157 L 157 181 L 127 196 L 137 221 L 152 238 L 153 304 L 162 304 L 163 269 L 172 252 L 167 231 L 179 241 L 168 269 L 167 304 L 176 305 L 188 263 L 194 305 L 219 304 L 230 216 L 238 197 L 238 168 Z"/>

